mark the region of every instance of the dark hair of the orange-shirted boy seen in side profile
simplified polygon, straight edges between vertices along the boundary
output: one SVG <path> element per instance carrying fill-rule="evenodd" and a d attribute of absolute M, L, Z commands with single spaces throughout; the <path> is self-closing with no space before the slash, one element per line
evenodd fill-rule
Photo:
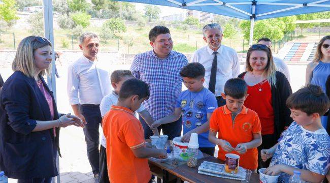
<path fill-rule="evenodd" d="M 149 85 L 137 78 L 129 78 L 123 82 L 119 90 L 119 100 L 123 101 L 130 96 L 138 95 L 139 100 L 149 98 Z"/>

